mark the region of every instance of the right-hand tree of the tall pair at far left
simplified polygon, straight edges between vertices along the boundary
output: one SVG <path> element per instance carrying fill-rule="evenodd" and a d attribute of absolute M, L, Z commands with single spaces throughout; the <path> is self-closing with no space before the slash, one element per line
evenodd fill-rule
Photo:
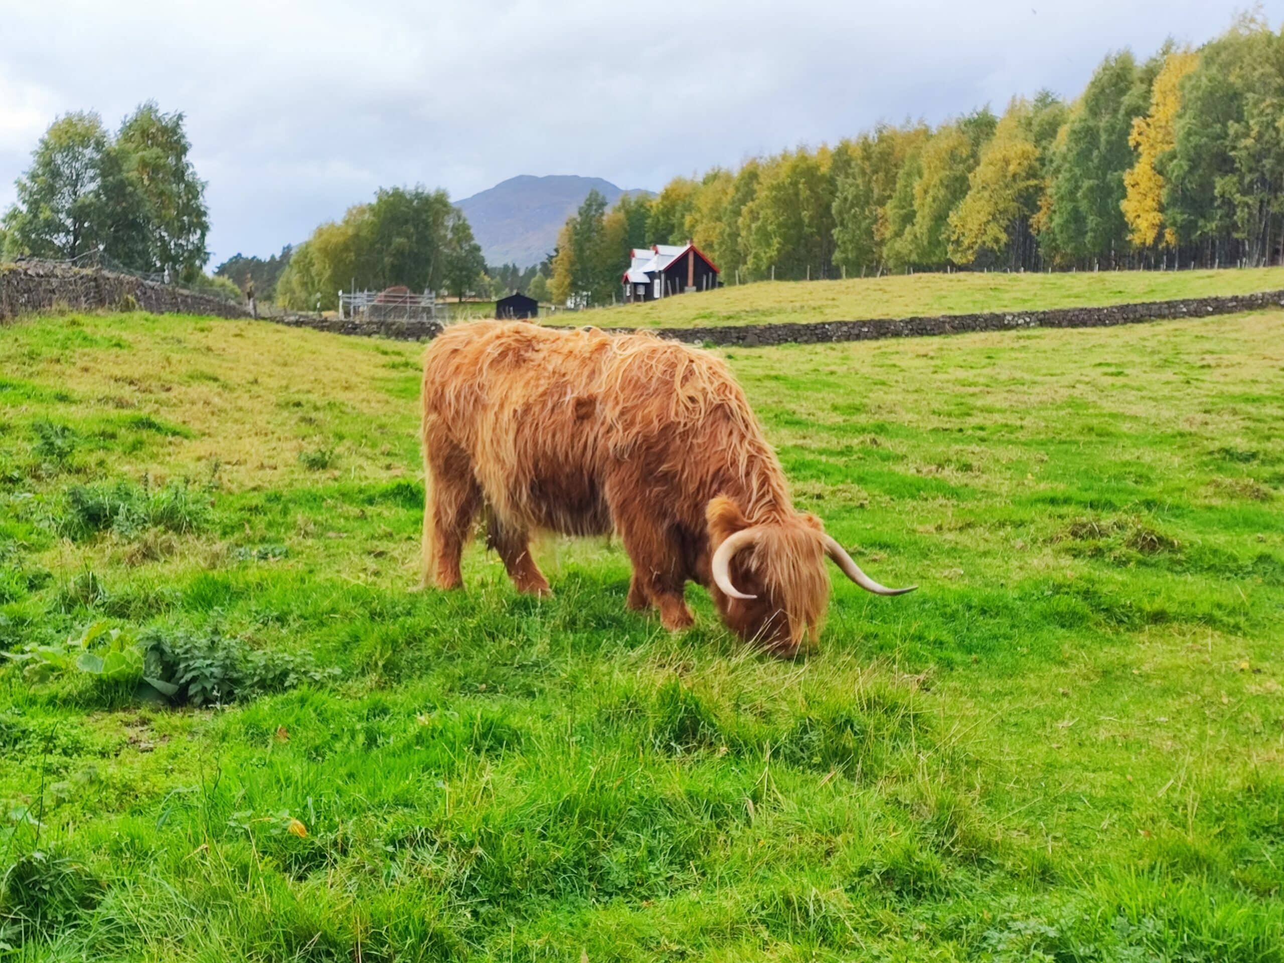
<path fill-rule="evenodd" d="M 162 113 L 149 100 L 121 125 L 114 149 L 144 204 L 148 267 L 193 280 L 209 259 L 209 216 L 182 122 L 181 113 Z"/>

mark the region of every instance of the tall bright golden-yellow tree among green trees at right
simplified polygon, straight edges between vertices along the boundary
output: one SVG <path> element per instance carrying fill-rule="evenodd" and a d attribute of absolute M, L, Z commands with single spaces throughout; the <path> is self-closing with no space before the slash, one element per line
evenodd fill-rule
<path fill-rule="evenodd" d="M 1136 163 L 1124 173 L 1125 195 L 1121 207 L 1129 226 L 1129 240 L 1140 248 L 1159 243 L 1174 247 L 1177 235 L 1163 220 L 1163 175 L 1158 160 L 1176 143 L 1174 122 L 1181 109 L 1181 78 L 1199 63 L 1192 50 L 1175 50 L 1163 60 L 1150 87 L 1150 112 L 1132 121 L 1129 144 Z"/>

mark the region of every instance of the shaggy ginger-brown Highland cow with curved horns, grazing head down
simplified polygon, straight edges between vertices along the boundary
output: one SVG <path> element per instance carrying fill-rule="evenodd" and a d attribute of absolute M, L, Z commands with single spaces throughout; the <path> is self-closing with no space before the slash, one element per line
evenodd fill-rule
<path fill-rule="evenodd" d="M 828 556 L 869 579 L 788 485 L 727 366 L 646 334 L 485 321 L 448 329 L 424 358 L 424 584 L 460 586 L 479 510 L 516 587 L 544 594 L 535 529 L 618 532 L 633 561 L 630 609 L 691 624 L 687 580 L 723 619 L 782 655 L 814 639 Z"/>

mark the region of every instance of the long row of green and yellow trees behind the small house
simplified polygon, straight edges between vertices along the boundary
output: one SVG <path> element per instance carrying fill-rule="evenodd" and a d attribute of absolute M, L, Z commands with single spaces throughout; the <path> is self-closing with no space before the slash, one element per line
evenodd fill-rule
<path fill-rule="evenodd" d="M 555 300 L 619 293 L 628 249 L 692 240 L 723 282 L 941 270 L 1280 263 L 1284 35 L 1247 14 L 1199 49 L 1108 55 L 1072 101 L 1041 91 L 937 127 L 675 177 L 561 230 Z"/>

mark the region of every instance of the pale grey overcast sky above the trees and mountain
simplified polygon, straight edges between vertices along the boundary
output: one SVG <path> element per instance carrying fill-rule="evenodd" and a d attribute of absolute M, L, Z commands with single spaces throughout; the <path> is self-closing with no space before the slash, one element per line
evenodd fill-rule
<path fill-rule="evenodd" d="M 621 187 L 878 119 L 1077 94 L 1102 56 L 1199 44 L 1224 0 L 657 4 L 0 0 L 0 209 L 54 117 L 182 110 L 211 266 L 303 240 L 380 185 L 517 173 Z M 1266 0 L 1274 26 L 1284 0 Z"/>

